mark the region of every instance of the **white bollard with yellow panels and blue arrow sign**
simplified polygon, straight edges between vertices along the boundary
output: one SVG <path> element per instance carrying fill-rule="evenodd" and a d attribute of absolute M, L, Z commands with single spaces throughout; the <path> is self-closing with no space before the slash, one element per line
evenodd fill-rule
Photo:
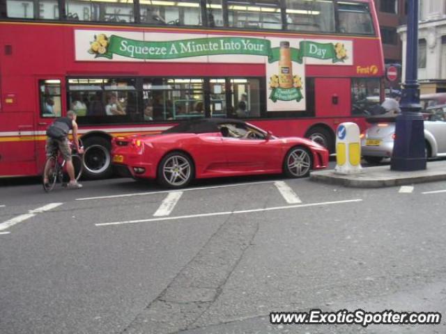
<path fill-rule="evenodd" d="M 353 122 L 341 123 L 337 127 L 334 173 L 342 175 L 362 173 L 360 128 Z"/>

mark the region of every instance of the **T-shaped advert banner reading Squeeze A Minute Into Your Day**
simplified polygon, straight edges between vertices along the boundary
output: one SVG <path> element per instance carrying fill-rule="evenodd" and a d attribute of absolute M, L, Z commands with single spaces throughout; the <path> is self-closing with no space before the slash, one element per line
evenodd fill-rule
<path fill-rule="evenodd" d="M 306 109 L 305 65 L 353 65 L 351 40 L 76 30 L 75 50 L 76 61 L 264 63 L 268 111 Z"/>

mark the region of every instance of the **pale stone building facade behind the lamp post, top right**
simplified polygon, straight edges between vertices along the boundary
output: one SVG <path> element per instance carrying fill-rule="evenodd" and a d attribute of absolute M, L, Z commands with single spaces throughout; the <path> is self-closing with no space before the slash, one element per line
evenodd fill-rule
<path fill-rule="evenodd" d="M 446 0 L 420 0 L 418 80 L 422 94 L 446 92 Z M 407 26 L 398 33 L 406 63 Z"/>

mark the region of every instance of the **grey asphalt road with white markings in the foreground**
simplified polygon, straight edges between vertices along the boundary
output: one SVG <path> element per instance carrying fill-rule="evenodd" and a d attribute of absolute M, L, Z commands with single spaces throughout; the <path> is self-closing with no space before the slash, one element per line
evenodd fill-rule
<path fill-rule="evenodd" d="M 446 164 L 446 161 L 445 161 Z M 446 182 L 281 176 L 181 192 L 0 187 L 0 333 L 446 333 Z M 401 192 L 405 191 L 405 192 Z M 436 311 L 424 326 L 270 325 L 271 311 Z"/>

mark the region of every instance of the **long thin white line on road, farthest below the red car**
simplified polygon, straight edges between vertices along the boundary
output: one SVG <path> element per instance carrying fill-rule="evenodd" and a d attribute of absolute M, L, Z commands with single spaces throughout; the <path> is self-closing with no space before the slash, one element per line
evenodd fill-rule
<path fill-rule="evenodd" d="M 299 205 L 286 205 L 285 207 L 264 207 L 261 209 L 249 209 L 249 210 L 239 210 L 239 211 L 225 211 L 225 212 L 211 212 L 209 214 L 190 214 L 187 216 L 174 216 L 174 217 L 162 217 L 162 218 L 149 218 L 149 219 L 139 219 L 136 221 L 115 221 L 112 223 L 96 223 L 96 226 L 107 226 L 107 225 L 123 225 L 123 224 L 134 224 L 134 223 L 148 223 L 151 221 L 173 221 L 177 219 L 187 219 L 187 218 L 199 218 L 199 217 L 209 217 L 209 216 L 223 216 L 228 214 L 247 214 L 251 212 L 264 212 L 272 210 L 286 210 L 286 209 L 296 209 L 300 207 L 315 207 L 321 205 L 333 205 L 333 204 L 343 204 L 351 202 L 361 202 L 361 199 L 356 200 L 338 200 L 335 202 L 319 202 L 319 203 L 309 203 L 309 204 L 299 204 Z"/>

